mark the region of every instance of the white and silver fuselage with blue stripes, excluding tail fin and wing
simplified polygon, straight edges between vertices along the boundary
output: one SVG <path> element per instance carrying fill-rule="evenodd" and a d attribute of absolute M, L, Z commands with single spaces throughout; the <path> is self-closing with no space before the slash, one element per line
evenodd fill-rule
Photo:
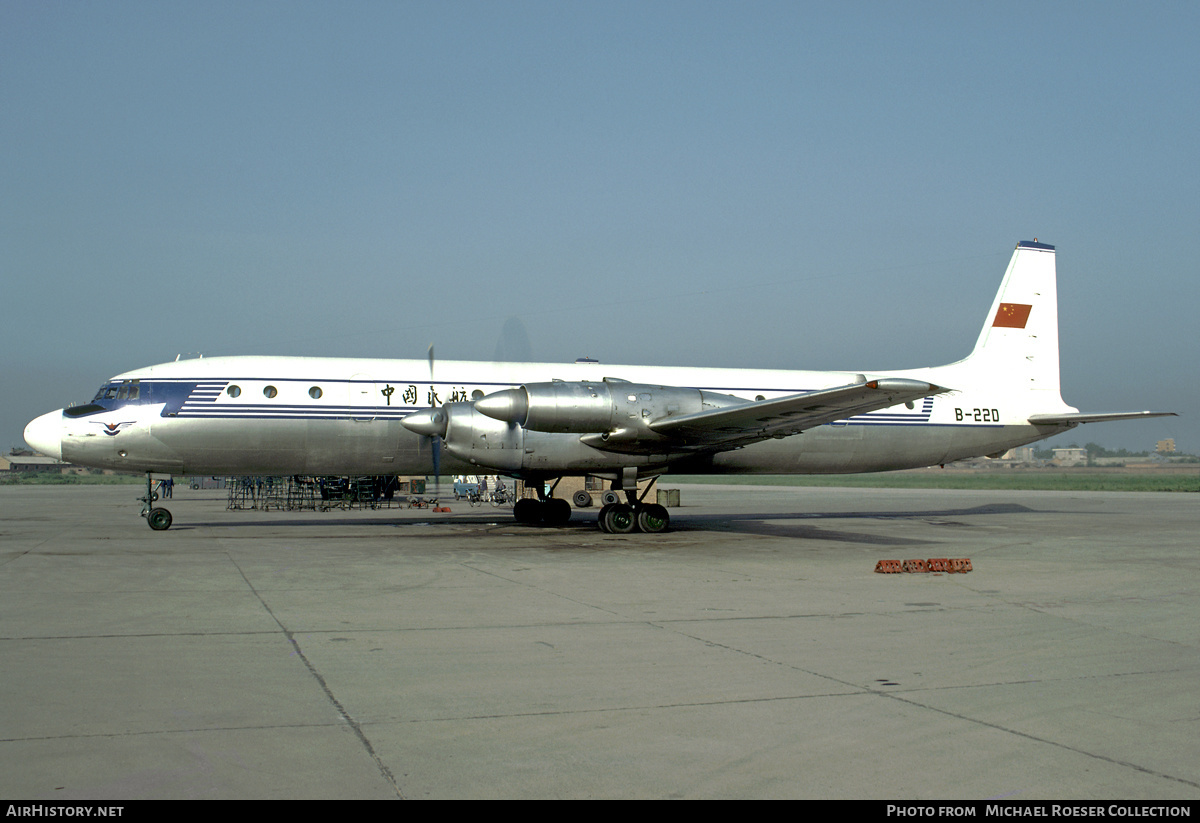
<path fill-rule="evenodd" d="M 918 400 L 911 408 L 900 404 L 794 437 L 679 462 L 671 470 L 878 471 L 994 453 L 1061 431 L 1028 425 L 1031 409 L 1021 394 L 956 390 L 955 378 L 966 379 L 968 373 L 954 366 L 887 376 L 930 380 L 952 391 Z M 107 394 L 113 397 L 104 398 L 106 389 L 101 390 L 94 404 L 102 410 L 72 416 L 68 409 L 46 416 L 61 420 L 59 456 L 79 465 L 215 475 L 424 475 L 434 471 L 432 449 L 428 438 L 401 425 L 406 415 L 527 383 L 604 377 L 706 389 L 748 401 L 857 379 L 854 372 L 443 361 L 431 380 L 430 366 L 421 360 L 205 358 L 126 372 L 109 382 Z M 118 397 L 122 384 L 137 386 L 137 398 Z M 536 441 L 526 447 L 535 459 Z M 439 470 L 452 474 L 478 467 L 445 455 Z M 547 467 L 546 473 L 589 470 Z"/>

